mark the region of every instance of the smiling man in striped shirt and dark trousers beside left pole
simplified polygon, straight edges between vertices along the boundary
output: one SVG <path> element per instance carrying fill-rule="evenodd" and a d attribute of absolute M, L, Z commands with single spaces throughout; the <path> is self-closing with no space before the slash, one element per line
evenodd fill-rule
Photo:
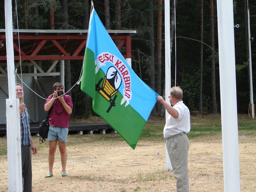
<path fill-rule="evenodd" d="M 31 153 L 36 154 L 37 148 L 30 134 L 28 109 L 23 102 L 24 93 L 21 84 L 16 84 L 16 94 L 17 98 L 20 100 L 21 167 L 23 192 L 32 192 Z"/>

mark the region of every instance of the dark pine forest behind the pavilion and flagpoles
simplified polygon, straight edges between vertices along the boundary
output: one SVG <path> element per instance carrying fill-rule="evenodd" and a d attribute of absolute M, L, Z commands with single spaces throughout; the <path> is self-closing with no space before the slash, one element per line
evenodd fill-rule
<path fill-rule="evenodd" d="M 14 29 L 17 26 L 19 29 L 88 29 L 91 0 L 12 2 Z M 153 90 L 164 96 L 164 0 L 92 2 L 106 29 L 137 31 L 131 35 L 132 69 Z M 252 39 L 256 32 L 256 1 L 249 3 L 251 37 L 248 37 L 247 0 L 233 1 L 237 112 L 240 114 L 248 113 L 250 104 L 249 41 L 252 50 L 252 84 L 256 83 L 256 42 Z M 219 113 L 217 2 L 176 0 L 175 8 L 174 17 L 174 1 L 171 0 L 171 86 L 181 86 L 184 103 L 191 112 Z M 0 18 L 0 28 L 4 29 L 4 1 L 0 1 Z M 235 27 L 237 24 L 239 28 Z M 124 48 L 120 51 L 124 51 Z M 50 62 L 38 61 L 38 65 L 46 68 Z M 66 90 L 76 84 L 82 65 L 82 60 L 65 61 Z M 22 71 L 29 70 L 29 67 L 22 67 Z M 59 68 L 54 70 L 58 71 Z M 256 94 L 255 89 L 253 92 Z M 93 114 L 92 100 L 80 90 L 80 85 L 75 86 L 69 94 L 74 103 L 73 117 Z M 164 109 L 157 103 L 152 113 L 164 116 Z"/>

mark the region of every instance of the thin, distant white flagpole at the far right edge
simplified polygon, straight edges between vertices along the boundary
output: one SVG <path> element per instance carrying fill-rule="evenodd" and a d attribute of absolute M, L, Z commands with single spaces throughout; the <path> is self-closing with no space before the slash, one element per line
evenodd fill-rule
<path fill-rule="evenodd" d="M 249 2 L 247 0 L 247 17 L 248 17 L 248 44 L 249 44 L 249 69 L 250 69 L 250 110 L 252 112 L 252 118 L 254 119 L 254 104 L 253 104 L 253 89 L 252 89 L 252 51 L 251 51 L 251 31 L 250 31 L 250 9 Z"/>

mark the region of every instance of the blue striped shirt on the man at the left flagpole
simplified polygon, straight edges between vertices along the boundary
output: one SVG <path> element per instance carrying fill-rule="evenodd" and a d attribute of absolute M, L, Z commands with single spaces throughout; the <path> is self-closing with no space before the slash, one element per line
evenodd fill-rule
<path fill-rule="evenodd" d="M 30 143 L 30 126 L 29 126 L 29 115 L 28 109 L 20 114 L 20 133 L 21 133 L 21 146 L 31 145 Z"/>

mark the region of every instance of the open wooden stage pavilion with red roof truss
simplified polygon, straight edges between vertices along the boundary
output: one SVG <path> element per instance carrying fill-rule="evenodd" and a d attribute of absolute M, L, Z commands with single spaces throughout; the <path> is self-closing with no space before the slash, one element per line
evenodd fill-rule
<path fill-rule="evenodd" d="M 17 82 L 21 83 L 19 77 L 22 77 L 28 87 L 47 98 L 55 82 L 65 82 L 64 60 L 80 60 L 82 68 L 87 33 L 88 30 L 13 29 L 15 69 L 20 69 L 20 66 L 34 68 L 30 73 L 18 72 Z M 113 40 L 118 40 L 117 48 L 122 50 L 124 58 L 131 65 L 131 34 L 136 33 L 136 30 L 108 30 L 108 33 Z M 0 124 L 5 124 L 5 100 L 9 98 L 5 40 L 5 29 L 0 29 Z M 43 62 L 42 67 L 38 65 L 38 61 L 45 60 L 52 60 L 51 65 L 44 66 Z M 52 72 L 55 66 L 59 69 Z M 26 94 L 24 102 L 29 110 L 30 121 L 39 123 L 46 116 L 43 107 L 45 100 L 27 86 L 23 85 Z"/>

